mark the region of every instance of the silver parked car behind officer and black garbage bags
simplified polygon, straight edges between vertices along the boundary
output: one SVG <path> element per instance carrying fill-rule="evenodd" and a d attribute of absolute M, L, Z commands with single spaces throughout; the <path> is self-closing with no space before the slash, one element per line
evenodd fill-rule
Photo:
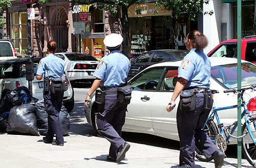
<path fill-rule="evenodd" d="M 14 90 L 21 86 L 28 88 L 26 80 L 26 62 L 30 58 L 16 58 L 0 61 L 0 96 L 3 99 L 8 91 Z M 32 59 L 34 62 L 34 75 L 36 75 L 37 66 L 41 58 Z M 64 74 L 62 79 L 68 83 L 68 90 L 64 92 L 63 105 L 68 111 L 74 108 L 74 90 L 71 87 L 68 77 Z M 32 81 L 32 96 L 37 99 L 44 99 L 42 91 L 44 89 L 44 79 L 37 80 L 34 77 Z"/>

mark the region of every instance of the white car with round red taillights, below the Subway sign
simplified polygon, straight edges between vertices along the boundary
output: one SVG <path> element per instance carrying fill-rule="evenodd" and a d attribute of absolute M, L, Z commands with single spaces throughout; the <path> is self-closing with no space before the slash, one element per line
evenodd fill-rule
<path fill-rule="evenodd" d="M 93 81 L 95 79 L 93 73 L 99 62 L 92 55 L 76 52 L 59 52 L 55 55 L 64 60 L 64 71 L 70 81 Z"/>

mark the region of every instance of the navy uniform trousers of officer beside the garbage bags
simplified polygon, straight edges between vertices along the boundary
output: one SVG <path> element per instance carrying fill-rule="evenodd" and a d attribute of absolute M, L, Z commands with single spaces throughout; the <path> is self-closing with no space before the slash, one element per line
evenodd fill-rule
<path fill-rule="evenodd" d="M 45 110 L 48 114 L 48 131 L 47 131 L 47 139 L 50 141 L 53 139 L 54 134 L 56 134 L 56 143 L 63 144 L 64 139 L 61 132 L 61 124 L 59 119 L 59 111 L 62 106 L 64 93 L 51 93 L 44 92 L 44 102 L 45 102 Z"/>

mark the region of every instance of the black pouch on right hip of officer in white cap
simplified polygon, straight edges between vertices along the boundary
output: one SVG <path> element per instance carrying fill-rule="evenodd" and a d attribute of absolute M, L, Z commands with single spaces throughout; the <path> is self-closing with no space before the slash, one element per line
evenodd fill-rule
<path fill-rule="evenodd" d="M 117 89 L 117 101 L 120 104 L 130 104 L 132 98 L 132 87 L 130 85 Z"/>

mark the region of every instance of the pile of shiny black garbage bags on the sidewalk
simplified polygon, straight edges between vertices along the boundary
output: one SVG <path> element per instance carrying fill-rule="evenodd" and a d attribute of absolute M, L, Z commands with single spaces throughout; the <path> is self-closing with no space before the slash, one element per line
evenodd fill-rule
<path fill-rule="evenodd" d="M 62 105 L 59 118 L 63 136 L 69 135 L 70 116 Z M 48 114 L 44 100 L 30 96 L 26 87 L 19 87 L 6 93 L 0 99 L 0 132 L 23 135 L 46 135 Z"/>

